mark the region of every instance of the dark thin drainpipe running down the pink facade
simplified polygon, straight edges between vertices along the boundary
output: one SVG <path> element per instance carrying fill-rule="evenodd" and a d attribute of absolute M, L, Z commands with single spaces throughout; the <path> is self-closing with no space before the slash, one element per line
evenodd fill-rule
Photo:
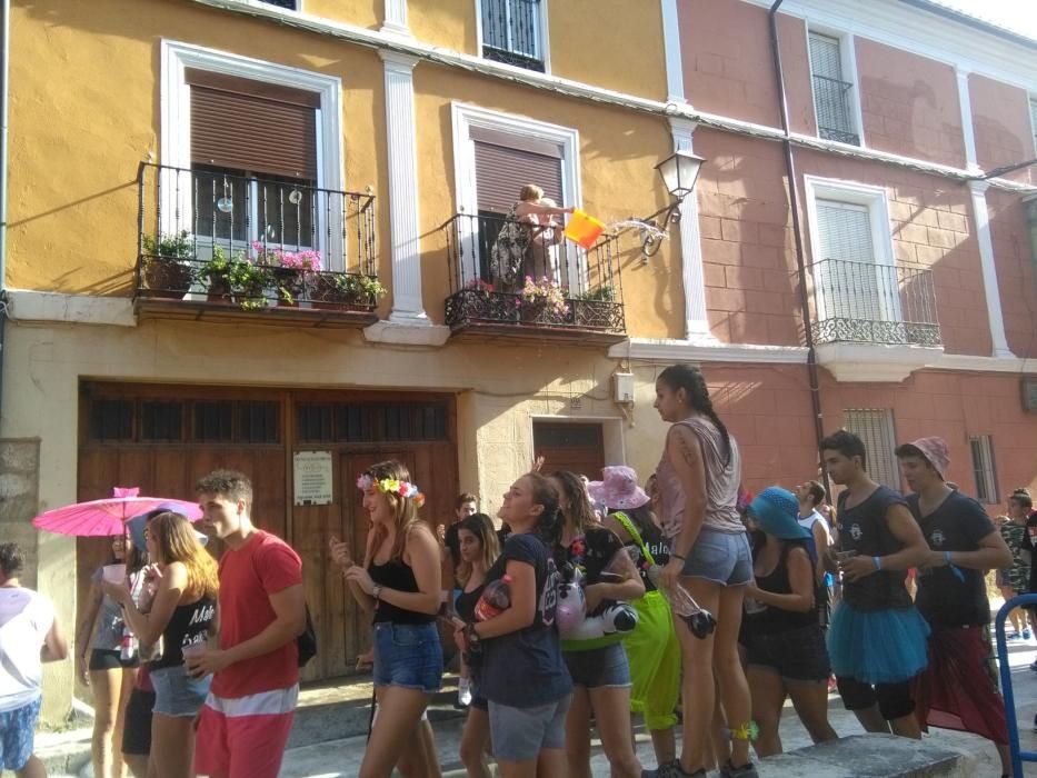
<path fill-rule="evenodd" d="M 792 153 L 792 137 L 788 121 L 788 94 L 785 91 L 785 71 L 781 68 L 781 50 L 778 47 L 778 8 L 785 0 L 775 0 L 768 11 L 770 22 L 770 52 L 774 57 L 775 83 L 778 87 L 778 104 L 781 109 L 781 131 L 785 133 L 785 170 L 788 177 L 789 207 L 792 211 L 792 236 L 796 240 L 796 268 L 799 271 L 799 306 L 802 311 L 802 331 L 807 343 L 807 375 L 810 380 L 810 406 L 814 409 L 814 436 L 820 455 L 825 427 L 821 418 L 821 390 L 817 376 L 817 352 L 814 348 L 814 328 L 810 317 L 810 300 L 807 297 L 807 265 L 802 248 L 802 223 L 799 220 L 799 177 L 796 173 L 796 158 Z M 828 472 L 824 472 L 825 486 L 831 493 Z"/>

